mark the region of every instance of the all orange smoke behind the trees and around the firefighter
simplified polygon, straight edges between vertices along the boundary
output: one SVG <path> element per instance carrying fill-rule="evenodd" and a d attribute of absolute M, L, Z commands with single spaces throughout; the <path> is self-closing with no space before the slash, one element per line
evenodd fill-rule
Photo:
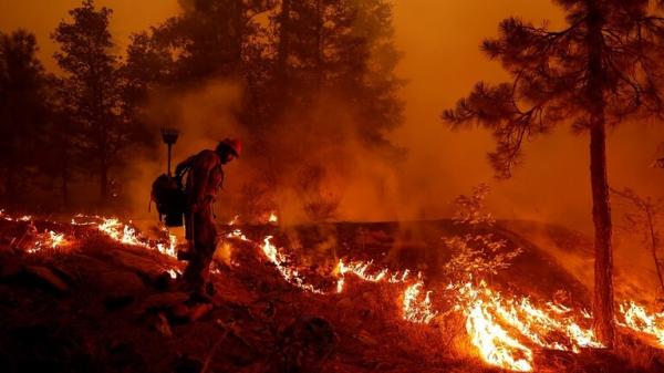
<path fill-rule="evenodd" d="M 175 15 L 187 2 L 118 0 L 113 3 L 100 1 L 98 6 L 114 9 L 112 30 L 120 52 L 132 32 Z M 77 3 L 59 0 L 44 7 L 35 0 L 6 2 L 0 6 L 0 22 L 7 30 L 24 27 L 34 31 L 41 59 L 49 70 L 54 70 L 51 56 L 55 45 L 49 34 L 66 17 L 66 11 Z M 449 216 L 449 200 L 479 183 L 489 182 L 494 190 L 489 207 L 499 218 L 551 221 L 591 232 L 587 135 L 572 135 L 561 127 L 550 136 L 535 139 L 527 144 L 526 163 L 516 170 L 515 177 L 495 182 L 486 160 L 486 153 L 494 147 L 490 135 L 483 131 L 454 133 L 439 120 L 440 112 L 466 95 L 478 80 L 499 82 L 507 79 L 502 68 L 487 60 L 478 45 L 483 39 L 496 35 L 498 22 L 510 15 L 535 23 L 550 20 L 551 28 L 563 24 L 562 13 L 553 1 L 395 1 L 395 43 L 404 55 L 398 75 L 408 80 L 408 84 L 402 91 L 406 122 L 391 138 L 408 149 L 406 159 L 402 163 L 385 162 L 365 149 L 355 141 L 354 125 L 344 117 L 344 107 L 334 107 L 334 100 L 325 99 L 326 105 L 318 110 L 318 118 L 325 120 L 325 115 L 330 115 L 329 122 L 341 118 L 339 132 L 344 133 L 343 142 L 323 144 L 319 153 L 321 142 L 317 136 L 338 139 L 335 133 L 318 132 L 313 127 L 314 121 L 297 123 L 294 127 L 301 131 L 295 132 L 287 129 L 291 126 L 283 126 L 280 131 L 276 125 L 278 129 L 271 141 L 282 143 L 286 148 L 280 151 L 274 145 L 270 154 L 262 156 L 262 159 L 274 157 L 272 162 L 286 163 L 283 173 L 277 176 L 293 186 L 277 191 L 276 199 L 283 208 L 280 213 L 293 220 L 307 215 L 298 207 L 302 194 L 301 188 L 295 188 L 299 184 L 295 182 L 297 169 L 302 168 L 300 166 L 304 162 L 319 159 L 317 163 L 329 163 L 323 176 L 319 177 L 321 184 L 330 189 L 326 191 L 331 194 L 330 199 L 339 201 L 339 219 Z M 242 86 L 236 82 L 210 82 L 198 92 L 155 95 L 149 106 L 155 136 L 158 136 L 158 128 L 164 123 L 180 125 L 183 134 L 175 146 L 176 162 L 201 148 L 212 147 L 216 141 L 226 136 L 248 138 L 250 134 L 241 132 L 242 126 L 235 123 L 232 115 L 241 92 Z M 305 144 L 298 144 L 297 137 Z M 611 185 L 662 196 L 664 172 L 649 167 L 662 139 L 664 129 L 655 123 L 627 123 L 613 129 L 608 146 Z M 293 152 L 298 157 L 281 160 L 280 153 L 292 152 L 289 146 L 298 149 Z M 307 148 L 313 148 L 314 154 Z M 260 170 L 264 169 L 253 167 L 261 164 L 259 160 L 249 162 L 247 158 L 268 149 L 249 147 L 248 151 L 246 157 L 227 167 L 226 190 L 221 194 L 225 205 L 219 204 L 222 211 L 236 209 L 228 204 L 235 204 L 237 193 L 246 193 L 243 184 L 257 174 L 260 176 Z M 132 164 L 126 170 L 132 183 L 124 191 L 131 195 L 135 211 L 144 214 L 149 184 L 165 170 L 166 152 L 164 147 L 158 152 L 132 152 Z M 256 189 L 257 197 L 270 191 L 262 186 L 256 186 Z M 269 205 L 260 198 L 256 199 L 256 204 Z"/>

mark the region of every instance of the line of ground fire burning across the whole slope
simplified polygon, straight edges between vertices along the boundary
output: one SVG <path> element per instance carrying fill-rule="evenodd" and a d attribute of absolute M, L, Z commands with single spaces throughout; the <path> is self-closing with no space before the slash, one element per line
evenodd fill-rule
<path fill-rule="evenodd" d="M 3 214 L 4 221 L 34 226 L 32 217 L 13 218 Z M 37 220 L 44 224 L 46 221 Z M 175 236 L 167 230 L 160 231 L 159 239 L 146 238 L 131 222 L 124 224 L 117 218 L 79 215 L 71 219 L 62 229 L 71 227 L 85 227 L 87 230 L 97 230 L 112 241 L 121 246 L 136 247 L 155 251 L 164 256 L 163 270 L 170 277 L 177 278 L 181 273 L 181 266 L 174 261 L 177 241 Z M 581 353 L 593 349 L 603 349 L 590 329 L 592 315 L 583 309 L 574 309 L 569 304 L 557 303 L 547 299 L 531 299 L 518 294 L 505 294 L 489 288 L 480 279 L 468 279 L 466 282 L 448 283 L 440 287 L 429 284 L 422 272 L 416 273 L 411 269 L 392 270 L 381 268 L 373 261 L 354 260 L 344 262 L 340 259 L 336 267 L 330 271 L 329 279 L 319 279 L 311 283 L 301 270 L 294 265 L 292 257 L 297 252 L 289 252 L 286 248 L 277 247 L 272 236 L 262 239 L 249 239 L 241 228 L 229 225 L 227 238 L 230 241 L 242 241 L 253 246 L 256 255 L 262 255 L 260 260 L 272 265 L 283 282 L 289 283 L 298 291 L 312 293 L 325 301 L 326 297 L 346 291 L 347 281 L 365 281 L 385 283 L 397 289 L 395 301 L 401 302 L 401 314 L 404 322 L 414 324 L 433 325 L 437 319 L 449 317 L 450 313 L 463 315 L 466 339 L 473 348 L 468 353 L 479 356 L 489 365 L 497 367 L 528 372 L 536 369 L 535 359 L 542 351 L 564 351 Z M 25 253 L 33 256 L 50 256 L 55 252 L 71 252 L 79 245 L 79 231 L 73 235 L 44 230 L 34 234 L 33 241 L 25 247 Z M 165 265 L 169 262 L 170 265 Z M 241 271 L 240 268 L 236 269 Z M 323 283 L 328 283 L 323 286 Z M 375 288 L 373 291 L 381 291 Z M 447 309 L 438 309 L 436 298 L 454 299 Z M 362 301 L 361 299 L 356 301 Z M 633 300 L 623 300 L 620 303 L 618 324 L 625 333 L 632 333 L 641 343 L 655 349 L 664 350 L 664 312 L 649 311 L 644 305 Z M 432 327 L 435 328 L 435 327 Z"/>

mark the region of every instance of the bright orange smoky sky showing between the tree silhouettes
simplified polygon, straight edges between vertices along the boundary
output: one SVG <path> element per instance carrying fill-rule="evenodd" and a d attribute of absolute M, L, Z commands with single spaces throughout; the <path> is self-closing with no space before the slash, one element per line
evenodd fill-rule
<path fill-rule="evenodd" d="M 54 70 L 55 46 L 49 39 L 75 0 L 0 0 L 0 30 L 24 28 L 34 32 L 40 56 Z M 118 52 L 132 32 L 145 30 L 175 15 L 177 0 L 96 1 L 114 10 L 112 31 Z M 434 218 L 449 214 L 449 200 L 474 185 L 489 183 L 498 217 L 549 220 L 582 230 L 591 228 L 588 136 L 569 127 L 526 146 L 526 163 L 509 180 L 492 179 L 486 153 L 494 146 L 484 131 L 452 132 L 439 120 L 479 80 L 498 82 L 508 76 L 479 50 L 484 38 L 497 34 L 498 22 L 518 15 L 536 24 L 563 24 L 562 13 L 549 0 L 398 0 L 394 1 L 395 38 L 404 59 L 398 68 L 408 81 L 403 127 L 392 139 L 408 148 L 395 165 L 398 204 L 395 217 Z M 629 123 L 612 129 L 609 141 L 609 178 L 616 187 L 633 187 L 644 195 L 662 195 L 664 170 L 649 167 L 664 139 L 660 123 Z M 660 155 L 664 156 L 664 154 Z"/>

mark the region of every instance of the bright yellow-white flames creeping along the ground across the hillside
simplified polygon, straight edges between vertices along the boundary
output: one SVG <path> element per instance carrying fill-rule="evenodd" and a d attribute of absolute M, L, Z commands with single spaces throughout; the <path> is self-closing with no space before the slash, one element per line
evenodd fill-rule
<path fill-rule="evenodd" d="M 9 221 L 32 219 L 31 216 L 13 218 L 6 215 L 3 210 L 0 210 L 0 218 Z M 276 221 L 276 215 L 270 216 L 270 221 Z M 133 228 L 131 221 L 123 224 L 115 218 L 77 215 L 71 222 L 75 226 L 96 227 L 104 235 L 123 245 L 158 250 L 170 257 L 176 256 L 177 239 L 174 235 L 168 235 L 168 244 L 155 245 Z M 35 247 L 29 252 L 38 252 L 43 248 L 60 248 L 70 242 L 64 234 L 51 230 L 38 236 Z M 235 229 L 227 237 L 250 241 L 240 229 Z M 289 256 L 272 244 L 271 236 L 266 237 L 262 245 L 255 244 L 261 247 L 266 258 L 274 265 L 288 283 L 304 291 L 326 293 L 305 281 L 289 260 Z M 167 269 L 167 272 L 174 279 L 180 273 L 177 268 Z M 403 286 L 402 317 L 405 321 L 428 324 L 440 314 L 434 309 L 432 302 L 434 293 L 426 290 L 421 273 L 412 279 L 407 269 L 391 271 L 386 268 L 376 268 L 373 261 L 340 260 L 333 274 L 336 278 L 336 292 L 343 292 L 349 274 L 367 282 Z M 484 281 L 450 284 L 446 291 L 456 299 L 453 311 L 461 312 L 466 318 L 465 327 L 469 342 L 477 349 L 480 359 L 490 365 L 526 372 L 535 369 L 536 349 L 578 353 L 584 348 L 602 348 L 592 330 L 583 325 L 592 319 L 592 314 L 584 309 L 574 310 L 553 302 L 538 305 L 528 297 L 506 297 L 490 289 Z M 620 304 L 619 318 L 620 327 L 647 336 L 656 341 L 657 346 L 664 349 L 664 312 L 653 313 L 644 305 L 626 301 Z"/>

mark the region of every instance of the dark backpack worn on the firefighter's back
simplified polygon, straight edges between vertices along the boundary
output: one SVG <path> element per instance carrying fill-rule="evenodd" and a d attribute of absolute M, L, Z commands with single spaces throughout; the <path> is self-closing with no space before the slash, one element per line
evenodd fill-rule
<path fill-rule="evenodd" d="M 186 209 L 186 194 L 179 178 L 159 175 L 153 185 L 151 199 L 157 206 L 159 221 L 167 227 L 181 227 Z"/>

